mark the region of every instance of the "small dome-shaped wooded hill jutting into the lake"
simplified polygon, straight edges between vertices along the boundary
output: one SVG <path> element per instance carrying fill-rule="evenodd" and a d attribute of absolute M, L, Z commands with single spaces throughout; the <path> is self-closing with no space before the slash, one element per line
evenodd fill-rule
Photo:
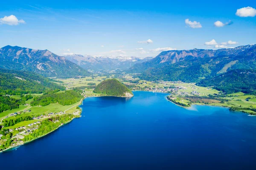
<path fill-rule="evenodd" d="M 99 83 L 93 91 L 94 93 L 106 94 L 108 96 L 131 97 L 133 93 L 129 88 L 117 79 L 107 79 Z"/>

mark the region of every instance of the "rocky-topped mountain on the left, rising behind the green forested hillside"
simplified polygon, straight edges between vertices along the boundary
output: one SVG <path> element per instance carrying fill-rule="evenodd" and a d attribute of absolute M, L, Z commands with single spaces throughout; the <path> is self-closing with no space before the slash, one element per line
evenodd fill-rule
<path fill-rule="evenodd" d="M 74 77 L 89 75 L 78 65 L 48 50 L 12 47 L 0 48 L 0 68 L 32 71 L 45 77 Z"/>

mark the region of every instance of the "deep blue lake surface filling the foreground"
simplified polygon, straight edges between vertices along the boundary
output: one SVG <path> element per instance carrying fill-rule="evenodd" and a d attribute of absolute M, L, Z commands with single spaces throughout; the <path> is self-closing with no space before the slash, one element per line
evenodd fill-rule
<path fill-rule="evenodd" d="M 84 99 L 82 117 L 17 150 L 9 169 L 256 169 L 256 116 L 181 108 L 167 94 Z"/>

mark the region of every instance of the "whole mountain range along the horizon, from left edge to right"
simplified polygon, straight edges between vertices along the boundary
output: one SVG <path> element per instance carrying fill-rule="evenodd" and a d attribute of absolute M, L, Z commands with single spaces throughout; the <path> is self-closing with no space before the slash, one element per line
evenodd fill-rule
<path fill-rule="evenodd" d="M 67 55 L 7 45 L 0 48 L 0 68 L 31 71 L 44 77 L 87 76 L 91 70 L 126 70 L 147 80 L 200 82 L 235 69 L 256 69 L 256 45 L 218 50 L 163 51 L 157 57 Z"/>

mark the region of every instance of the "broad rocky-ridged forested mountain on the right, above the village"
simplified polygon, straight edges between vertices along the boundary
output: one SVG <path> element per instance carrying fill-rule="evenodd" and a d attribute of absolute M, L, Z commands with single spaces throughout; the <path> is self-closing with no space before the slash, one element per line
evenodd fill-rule
<path fill-rule="evenodd" d="M 198 82 L 238 68 L 256 69 L 256 45 L 219 50 L 163 51 L 157 57 L 129 69 L 143 79 Z"/>

